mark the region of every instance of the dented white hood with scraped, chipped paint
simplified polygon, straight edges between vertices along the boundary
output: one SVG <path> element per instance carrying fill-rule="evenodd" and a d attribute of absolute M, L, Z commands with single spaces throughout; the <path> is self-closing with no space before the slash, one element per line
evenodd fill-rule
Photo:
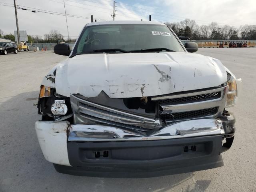
<path fill-rule="evenodd" d="M 55 69 L 55 85 L 53 81 L 51 85 L 64 96 L 95 97 L 102 90 L 110 98 L 157 96 L 227 81 L 219 60 L 187 52 L 84 54 Z"/>

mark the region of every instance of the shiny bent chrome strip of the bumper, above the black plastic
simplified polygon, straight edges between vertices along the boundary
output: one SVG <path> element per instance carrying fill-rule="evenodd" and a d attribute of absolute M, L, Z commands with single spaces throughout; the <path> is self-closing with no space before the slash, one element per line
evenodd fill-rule
<path fill-rule="evenodd" d="M 158 130 L 140 132 L 108 125 L 72 124 L 68 141 L 144 141 L 225 134 L 221 120 L 196 119 L 168 124 Z"/>

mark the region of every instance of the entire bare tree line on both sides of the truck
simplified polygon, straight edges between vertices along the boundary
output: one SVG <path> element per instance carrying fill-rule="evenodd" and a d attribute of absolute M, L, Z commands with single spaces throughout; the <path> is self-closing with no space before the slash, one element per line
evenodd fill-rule
<path fill-rule="evenodd" d="M 166 22 L 177 36 L 186 36 L 190 40 L 256 40 L 256 25 L 243 25 L 234 27 L 218 25 L 212 22 L 208 25 L 198 25 L 195 20 L 185 19 L 180 22 Z M 4 34 L 0 29 L 0 38 L 15 41 L 13 34 Z M 28 35 L 29 43 L 58 43 L 75 42 L 76 39 L 64 38 L 58 30 L 50 30 L 44 36 Z"/>

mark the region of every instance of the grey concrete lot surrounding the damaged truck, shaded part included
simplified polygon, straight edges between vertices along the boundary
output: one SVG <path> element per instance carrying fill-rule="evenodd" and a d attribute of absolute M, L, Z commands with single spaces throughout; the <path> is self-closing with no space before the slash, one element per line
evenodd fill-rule
<path fill-rule="evenodd" d="M 256 192 L 256 48 L 202 48 L 242 78 L 232 148 L 224 166 L 156 178 L 93 178 L 57 173 L 44 159 L 34 122 L 46 73 L 66 56 L 52 51 L 0 55 L 0 192 Z"/>

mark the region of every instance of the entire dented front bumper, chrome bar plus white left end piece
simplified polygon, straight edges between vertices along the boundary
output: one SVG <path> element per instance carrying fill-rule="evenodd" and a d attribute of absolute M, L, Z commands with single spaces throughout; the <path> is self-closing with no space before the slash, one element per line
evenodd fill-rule
<path fill-rule="evenodd" d="M 148 132 L 100 124 L 70 124 L 68 121 L 38 121 L 35 128 L 46 160 L 54 164 L 74 166 L 70 163 L 72 156 L 68 155 L 68 145 L 76 146 L 82 143 L 96 147 L 100 143 L 114 143 L 115 146 L 122 143 L 130 146 L 131 143 L 174 144 L 178 141 L 183 146 L 188 140 L 197 143 L 201 138 L 207 141 L 208 138 L 218 137 L 220 141 L 221 138 L 226 138 L 226 143 L 221 145 L 220 142 L 220 147 L 215 150 L 224 152 L 232 145 L 234 123 L 235 118 L 232 113 L 226 113 L 218 119 L 204 118 L 176 122 Z"/>

